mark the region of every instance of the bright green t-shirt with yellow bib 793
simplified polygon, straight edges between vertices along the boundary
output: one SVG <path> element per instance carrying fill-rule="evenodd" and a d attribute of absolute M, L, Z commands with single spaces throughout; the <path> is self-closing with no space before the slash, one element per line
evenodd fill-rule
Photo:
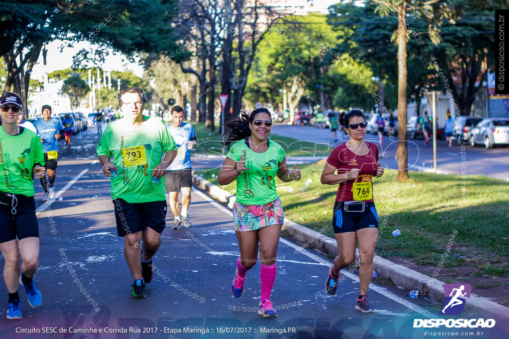
<path fill-rule="evenodd" d="M 124 119 L 111 122 L 97 146 L 98 156 L 113 157 L 117 177 L 111 177 L 111 197 L 130 203 L 164 201 L 164 177 L 152 182 L 152 170 L 161 163 L 164 153 L 177 149 L 161 120 L 145 116 L 136 128 Z"/>

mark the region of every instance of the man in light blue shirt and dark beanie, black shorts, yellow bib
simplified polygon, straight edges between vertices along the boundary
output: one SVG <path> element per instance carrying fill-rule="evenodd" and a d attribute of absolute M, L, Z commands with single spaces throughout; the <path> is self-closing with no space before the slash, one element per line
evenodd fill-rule
<path fill-rule="evenodd" d="M 42 118 L 37 119 L 34 126 L 39 131 L 48 173 L 46 178 L 40 179 L 44 189 L 44 199 L 42 201 L 46 201 L 55 197 L 53 182 L 55 181 L 56 166 L 59 160 L 60 131 L 64 130 L 64 126 L 62 126 L 60 119 L 51 117 L 51 106 L 49 105 L 42 106 Z"/>

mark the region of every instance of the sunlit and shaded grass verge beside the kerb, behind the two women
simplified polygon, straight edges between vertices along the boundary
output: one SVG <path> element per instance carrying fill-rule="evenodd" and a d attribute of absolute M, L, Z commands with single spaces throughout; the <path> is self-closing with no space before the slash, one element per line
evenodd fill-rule
<path fill-rule="evenodd" d="M 330 225 L 337 186 L 320 183 L 323 162 L 298 168 L 302 180 L 276 179 L 286 217 L 333 238 Z M 203 175 L 217 184 L 218 172 Z M 446 254 L 444 267 L 469 265 L 479 269 L 479 276 L 509 276 L 509 183 L 480 175 L 461 179 L 460 175 L 411 172 L 407 182 L 398 182 L 395 176 L 396 172 L 387 170 L 383 177 L 374 178 L 380 224 L 377 255 L 436 266 Z M 307 179 L 312 182 L 305 186 Z M 236 183 L 223 189 L 235 194 Z M 395 229 L 401 231 L 400 236 L 391 235 Z"/>

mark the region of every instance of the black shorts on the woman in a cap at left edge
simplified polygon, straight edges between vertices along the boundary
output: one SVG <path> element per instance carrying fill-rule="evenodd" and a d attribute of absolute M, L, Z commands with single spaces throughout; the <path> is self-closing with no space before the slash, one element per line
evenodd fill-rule
<path fill-rule="evenodd" d="M 0 192 L 0 243 L 39 237 L 34 197 L 16 194 L 16 199 Z"/>

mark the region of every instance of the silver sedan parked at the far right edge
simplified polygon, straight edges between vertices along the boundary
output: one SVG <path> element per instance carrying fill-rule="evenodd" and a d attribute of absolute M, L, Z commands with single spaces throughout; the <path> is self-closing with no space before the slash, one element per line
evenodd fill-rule
<path fill-rule="evenodd" d="M 470 146 L 509 144 L 509 118 L 485 118 L 470 130 Z"/>

